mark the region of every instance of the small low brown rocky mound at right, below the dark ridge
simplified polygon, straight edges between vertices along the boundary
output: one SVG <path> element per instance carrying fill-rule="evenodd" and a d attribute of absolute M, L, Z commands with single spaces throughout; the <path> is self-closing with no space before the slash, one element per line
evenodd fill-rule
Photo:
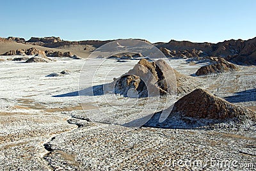
<path fill-rule="evenodd" d="M 212 58 L 213 63 L 207 66 L 202 66 L 196 71 L 196 75 L 209 75 L 212 73 L 223 73 L 227 71 L 239 70 L 236 65 L 228 63 L 221 57 Z"/>

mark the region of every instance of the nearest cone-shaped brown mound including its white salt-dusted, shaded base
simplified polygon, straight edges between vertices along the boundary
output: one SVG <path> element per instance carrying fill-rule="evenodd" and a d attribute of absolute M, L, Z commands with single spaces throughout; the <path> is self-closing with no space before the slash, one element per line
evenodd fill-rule
<path fill-rule="evenodd" d="M 162 111 L 163 112 L 163 111 Z M 256 123 L 252 110 L 233 105 L 203 90 L 196 89 L 177 101 L 165 121 L 159 123 L 161 112 L 154 114 L 145 126 L 161 128 L 236 128 Z"/>

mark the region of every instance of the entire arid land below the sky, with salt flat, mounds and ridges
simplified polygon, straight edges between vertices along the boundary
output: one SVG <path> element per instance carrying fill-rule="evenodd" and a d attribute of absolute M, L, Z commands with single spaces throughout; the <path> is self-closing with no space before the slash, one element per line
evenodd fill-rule
<path fill-rule="evenodd" d="M 0 39 L 0 170 L 256 170 L 256 38 L 109 42 Z"/>

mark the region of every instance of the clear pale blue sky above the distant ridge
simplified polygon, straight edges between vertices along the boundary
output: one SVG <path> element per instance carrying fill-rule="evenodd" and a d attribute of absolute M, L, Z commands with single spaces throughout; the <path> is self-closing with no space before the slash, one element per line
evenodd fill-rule
<path fill-rule="evenodd" d="M 254 0 L 0 0 L 0 37 L 212 42 L 256 36 Z"/>

